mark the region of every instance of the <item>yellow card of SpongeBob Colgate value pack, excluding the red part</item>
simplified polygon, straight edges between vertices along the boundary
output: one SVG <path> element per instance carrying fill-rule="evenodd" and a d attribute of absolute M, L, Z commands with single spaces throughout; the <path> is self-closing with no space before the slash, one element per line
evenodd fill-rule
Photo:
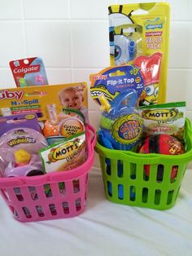
<path fill-rule="evenodd" d="M 141 55 L 146 57 L 155 53 L 162 55 L 157 103 L 164 103 L 168 77 L 170 23 L 168 3 L 114 5 L 108 7 L 108 10 L 111 66 L 134 64 L 134 60 Z M 130 43 L 133 43 L 134 48 L 131 48 Z M 123 58 L 121 61 L 120 57 Z"/>

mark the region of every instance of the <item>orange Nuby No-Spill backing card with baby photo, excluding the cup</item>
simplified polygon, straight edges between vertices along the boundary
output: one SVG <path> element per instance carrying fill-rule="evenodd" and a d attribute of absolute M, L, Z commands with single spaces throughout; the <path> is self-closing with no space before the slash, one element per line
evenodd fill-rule
<path fill-rule="evenodd" d="M 72 99 L 78 100 L 72 103 Z M 63 115 L 63 108 L 80 111 L 88 122 L 85 82 L 55 86 L 28 86 L 0 90 L 0 116 L 36 113 L 39 121 Z"/>

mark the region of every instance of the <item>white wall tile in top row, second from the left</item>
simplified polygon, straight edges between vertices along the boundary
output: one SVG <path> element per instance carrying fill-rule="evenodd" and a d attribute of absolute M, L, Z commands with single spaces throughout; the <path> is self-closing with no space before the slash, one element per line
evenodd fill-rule
<path fill-rule="evenodd" d="M 24 0 L 25 19 L 68 19 L 68 0 Z"/>

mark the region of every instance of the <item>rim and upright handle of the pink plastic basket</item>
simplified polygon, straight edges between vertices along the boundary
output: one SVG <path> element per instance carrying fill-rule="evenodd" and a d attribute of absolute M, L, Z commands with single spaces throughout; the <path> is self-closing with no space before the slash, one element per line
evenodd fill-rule
<path fill-rule="evenodd" d="M 44 183 L 58 182 L 59 180 L 67 181 L 77 179 L 82 174 L 87 173 L 94 163 L 94 146 L 97 136 L 94 127 L 89 124 L 87 124 L 85 127 L 85 134 L 87 140 L 88 157 L 81 166 L 68 171 L 52 172 L 50 174 L 40 176 L 0 178 L 0 188 L 16 188 L 20 186 L 23 187 L 24 185 L 37 186 Z"/>

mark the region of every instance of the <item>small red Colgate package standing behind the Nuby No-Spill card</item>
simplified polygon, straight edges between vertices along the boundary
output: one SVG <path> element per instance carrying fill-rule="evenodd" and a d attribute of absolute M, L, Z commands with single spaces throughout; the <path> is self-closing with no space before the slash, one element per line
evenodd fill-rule
<path fill-rule="evenodd" d="M 39 57 L 11 60 L 10 68 L 17 87 L 48 85 L 46 69 Z"/>

